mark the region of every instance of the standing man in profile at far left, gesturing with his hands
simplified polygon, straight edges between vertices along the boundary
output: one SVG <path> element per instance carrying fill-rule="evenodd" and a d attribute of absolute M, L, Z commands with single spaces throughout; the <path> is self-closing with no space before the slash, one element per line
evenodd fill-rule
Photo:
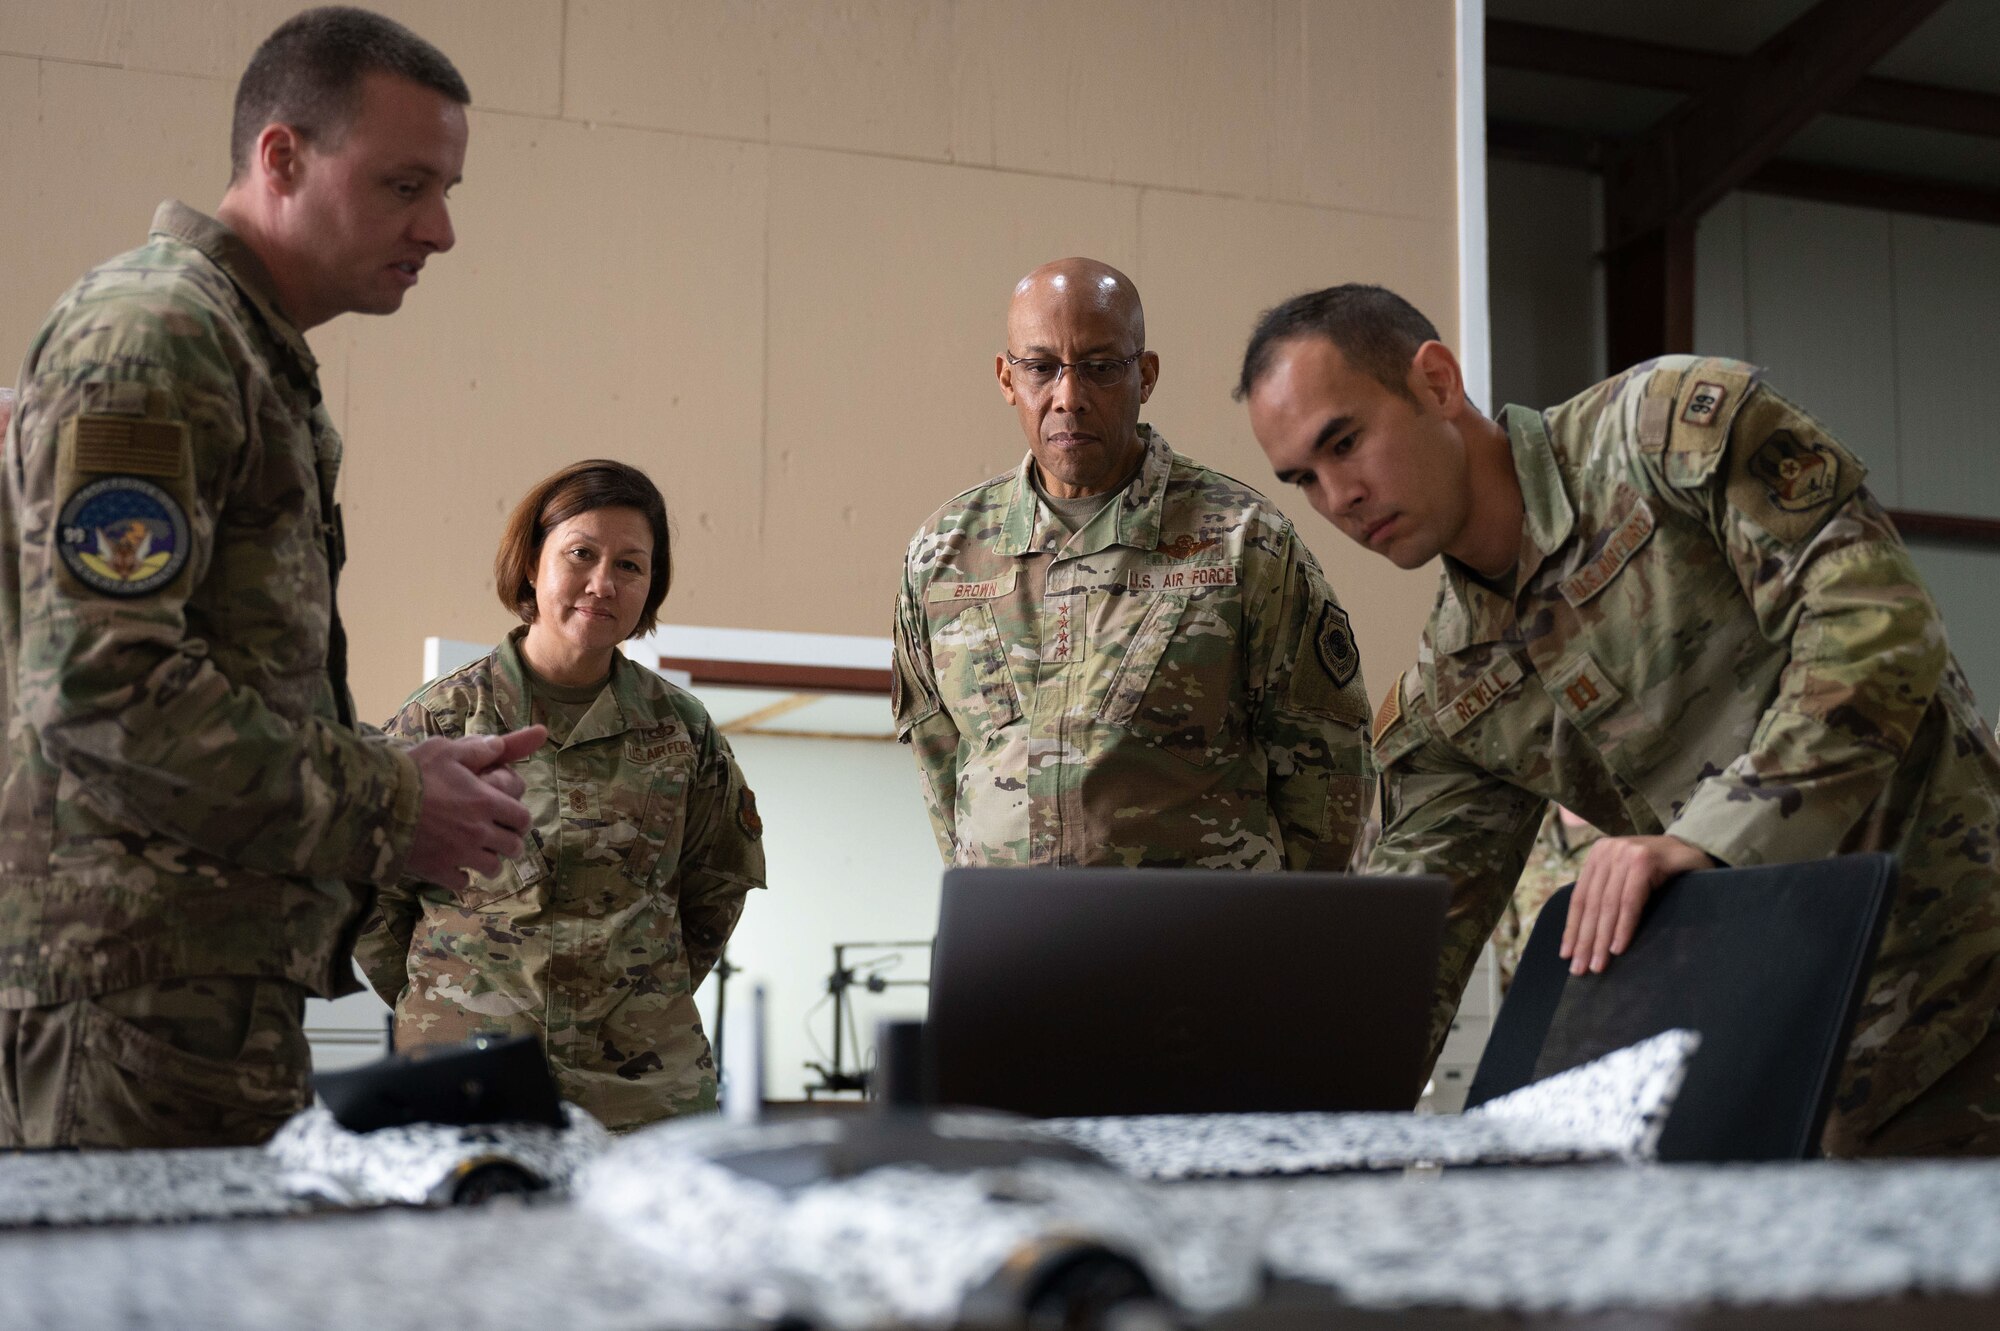
<path fill-rule="evenodd" d="M 518 849 L 540 733 L 362 735 L 340 438 L 304 330 L 450 246 L 466 90 L 308 12 L 236 100 L 218 218 L 162 204 L 36 334 L 0 464 L 0 1145 L 234 1145 L 308 1099 L 370 883 Z"/>

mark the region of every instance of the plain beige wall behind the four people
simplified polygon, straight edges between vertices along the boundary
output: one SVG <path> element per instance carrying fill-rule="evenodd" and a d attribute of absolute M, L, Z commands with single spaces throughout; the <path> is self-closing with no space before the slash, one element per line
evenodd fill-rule
<path fill-rule="evenodd" d="M 0 364 L 152 206 L 212 208 L 234 78 L 296 6 L 0 0 Z M 492 640 L 502 514 L 588 454 L 676 514 L 680 624 L 886 634 L 908 534 L 1022 450 L 1014 278 L 1146 296 L 1178 448 L 1270 488 L 1228 400 L 1256 312 L 1342 280 L 1456 320 L 1450 0 L 382 0 L 476 94 L 458 250 L 314 332 L 348 436 L 366 715 Z M 0 372 L 4 374 L 4 372 Z M 1380 695 L 1428 574 L 1278 496 Z"/>

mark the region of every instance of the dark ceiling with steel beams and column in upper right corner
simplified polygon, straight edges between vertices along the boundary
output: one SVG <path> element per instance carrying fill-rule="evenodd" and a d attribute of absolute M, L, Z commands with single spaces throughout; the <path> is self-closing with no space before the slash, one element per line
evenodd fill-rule
<path fill-rule="evenodd" d="M 2000 224 L 2000 0 L 1488 0 L 1486 142 L 1604 176 L 1610 362 L 1686 352 L 1730 190 Z"/>

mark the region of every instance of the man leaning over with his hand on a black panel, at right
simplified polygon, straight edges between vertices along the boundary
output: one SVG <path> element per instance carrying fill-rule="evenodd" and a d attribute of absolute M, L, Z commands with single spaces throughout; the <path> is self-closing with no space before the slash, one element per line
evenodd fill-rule
<path fill-rule="evenodd" d="M 1376 719 L 1370 861 L 1456 883 L 1438 1029 L 1550 799 L 1606 833 L 1564 933 L 1584 975 L 1678 871 L 1892 851 L 1824 1145 L 2000 1153 L 2000 749 L 1860 462 L 1692 356 L 1496 424 L 1380 288 L 1272 310 L 1240 392 L 1320 514 L 1398 566 L 1444 556 Z"/>

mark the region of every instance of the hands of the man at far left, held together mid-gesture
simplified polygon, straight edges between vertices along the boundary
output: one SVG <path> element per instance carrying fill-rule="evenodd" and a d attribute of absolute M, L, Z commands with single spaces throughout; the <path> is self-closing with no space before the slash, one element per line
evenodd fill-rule
<path fill-rule="evenodd" d="M 424 739 L 410 749 L 424 779 L 416 835 L 404 871 L 452 891 L 466 889 L 466 871 L 498 873 L 520 853 L 528 831 L 522 779 L 508 763 L 528 757 L 548 739 L 546 725 L 508 735 Z"/>

